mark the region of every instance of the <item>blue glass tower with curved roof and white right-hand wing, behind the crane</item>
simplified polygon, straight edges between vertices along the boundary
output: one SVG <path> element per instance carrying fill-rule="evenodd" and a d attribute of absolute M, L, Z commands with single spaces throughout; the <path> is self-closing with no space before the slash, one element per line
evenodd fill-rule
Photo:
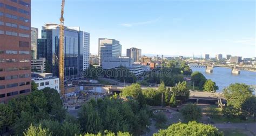
<path fill-rule="evenodd" d="M 64 28 L 64 75 L 66 79 L 77 78 L 89 64 L 89 33 L 79 27 Z M 88 56 L 86 56 L 88 55 Z M 46 58 L 53 76 L 59 77 L 59 25 L 45 24 L 42 38 L 37 40 L 37 56 Z M 89 66 L 87 66 L 89 67 Z"/>

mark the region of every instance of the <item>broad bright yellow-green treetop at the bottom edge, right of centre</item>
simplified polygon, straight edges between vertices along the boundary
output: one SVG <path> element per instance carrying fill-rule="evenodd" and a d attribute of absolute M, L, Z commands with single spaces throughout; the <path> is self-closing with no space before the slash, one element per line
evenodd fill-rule
<path fill-rule="evenodd" d="M 158 133 L 154 133 L 153 135 L 223 135 L 223 133 L 219 132 L 218 128 L 212 125 L 205 125 L 192 121 L 188 124 L 172 124 L 166 130 L 159 130 Z"/>

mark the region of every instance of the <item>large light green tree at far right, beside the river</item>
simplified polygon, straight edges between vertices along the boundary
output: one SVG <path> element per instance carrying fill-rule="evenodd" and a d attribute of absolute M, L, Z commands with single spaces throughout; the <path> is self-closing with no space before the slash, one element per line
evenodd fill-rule
<path fill-rule="evenodd" d="M 224 89 L 224 97 L 227 99 L 227 106 L 241 108 L 246 99 L 252 97 L 252 88 L 246 84 L 231 84 Z"/>

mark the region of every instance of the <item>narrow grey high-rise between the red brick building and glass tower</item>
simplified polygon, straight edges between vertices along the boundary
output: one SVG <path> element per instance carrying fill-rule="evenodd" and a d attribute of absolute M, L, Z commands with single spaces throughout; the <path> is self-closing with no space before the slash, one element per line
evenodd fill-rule
<path fill-rule="evenodd" d="M 38 39 L 38 29 L 31 27 L 31 58 L 37 59 L 37 39 Z"/>

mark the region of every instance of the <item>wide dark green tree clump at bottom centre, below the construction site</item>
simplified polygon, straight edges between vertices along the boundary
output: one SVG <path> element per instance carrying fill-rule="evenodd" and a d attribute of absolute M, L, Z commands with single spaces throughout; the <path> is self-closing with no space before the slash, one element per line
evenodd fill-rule
<path fill-rule="evenodd" d="M 78 117 L 85 133 L 109 130 L 114 133 L 122 131 L 140 134 L 146 129 L 146 125 L 150 125 L 147 108 L 140 108 L 139 103 L 132 99 L 91 100 L 83 105 Z"/>

